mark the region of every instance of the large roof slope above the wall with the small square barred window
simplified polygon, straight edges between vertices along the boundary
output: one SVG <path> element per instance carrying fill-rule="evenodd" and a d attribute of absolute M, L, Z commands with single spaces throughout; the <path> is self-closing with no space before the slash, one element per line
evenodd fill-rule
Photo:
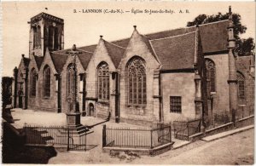
<path fill-rule="evenodd" d="M 196 32 L 151 40 L 162 70 L 191 69 L 195 63 Z"/>

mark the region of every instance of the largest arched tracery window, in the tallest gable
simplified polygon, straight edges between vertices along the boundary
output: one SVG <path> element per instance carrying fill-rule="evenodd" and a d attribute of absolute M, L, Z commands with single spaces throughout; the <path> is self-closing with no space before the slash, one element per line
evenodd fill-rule
<path fill-rule="evenodd" d="M 128 105 L 147 104 L 147 80 L 144 60 L 139 57 L 131 59 L 128 73 Z"/>

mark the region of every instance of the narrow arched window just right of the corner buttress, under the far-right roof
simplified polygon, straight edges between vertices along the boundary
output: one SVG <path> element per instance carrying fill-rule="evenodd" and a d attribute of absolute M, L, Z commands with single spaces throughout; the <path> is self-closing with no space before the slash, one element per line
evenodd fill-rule
<path fill-rule="evenodd" d="M 206 69 L 207 69 L 207 95 L 210 96 L 211 92 L 216 91 L 216 85 L 215 85 L 216 68 L 212 60 L 206 59 L 205 63 L 206 63 Z"/>

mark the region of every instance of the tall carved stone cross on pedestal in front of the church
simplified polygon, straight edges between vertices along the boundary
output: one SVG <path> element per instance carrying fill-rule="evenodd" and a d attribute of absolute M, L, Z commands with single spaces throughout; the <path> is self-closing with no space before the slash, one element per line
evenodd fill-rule
<path fill-rule="evenodd" d="M 72 66 L 69 68 L 68 72 L 70 74 L 71 82 L 71 95 L 67 99 L 67 125 L 71 127 L 77 127 L 80 125 L 80 112 L 79 112 L 79 103 L 77 101 L 77 89 L 78 89 L 78 69 L 76 66 L 77 55 L 81 54 L 76 49 L 76 45 L 73 44 L 73 49 L 68 51 L 67 54 L 70 54 L 73 57 Z"/>

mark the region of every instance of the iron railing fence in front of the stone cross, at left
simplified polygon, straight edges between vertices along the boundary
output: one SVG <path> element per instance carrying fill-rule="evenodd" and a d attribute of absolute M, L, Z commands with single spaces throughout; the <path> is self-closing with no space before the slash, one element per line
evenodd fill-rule
<path fill-rule="evenodd" d="M 24 125 L 26 145 L 65 146 L 69 150 L 86 151 L 86 131 L 78 135 L 67 126 Z"/>

